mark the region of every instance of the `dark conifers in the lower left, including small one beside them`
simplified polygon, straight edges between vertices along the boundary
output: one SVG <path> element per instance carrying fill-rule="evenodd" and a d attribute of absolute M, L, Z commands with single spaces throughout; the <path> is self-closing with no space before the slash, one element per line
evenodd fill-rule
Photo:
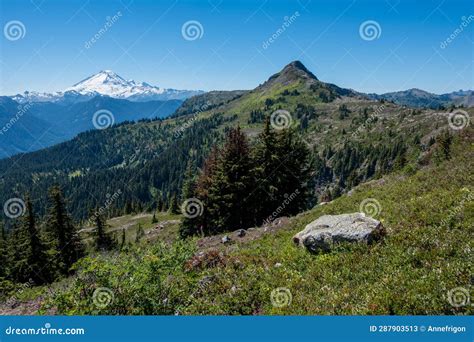
<path fill-rule="evenodd" d="M 85 255 L 85 246 L 73 223 L 61 189 L 53 186 L 48 192 L 48 210 L 42 221 L 38 220 L 34 205 L 26 196 L 24 207 L 12 219 L 9 230 L 2 226 L 0 236 L 0 288 L 8 290 L 8 284 L 50 283 L 72 272 L 72 265 Z M 94 223 L 94 247 L 98 251 L 109 250 L 116 245 L 115 239 L 105 231 L 105 222 L 98 211 L 92 213 Z M 3 293 L 5 294 L 5 293 Z"/>

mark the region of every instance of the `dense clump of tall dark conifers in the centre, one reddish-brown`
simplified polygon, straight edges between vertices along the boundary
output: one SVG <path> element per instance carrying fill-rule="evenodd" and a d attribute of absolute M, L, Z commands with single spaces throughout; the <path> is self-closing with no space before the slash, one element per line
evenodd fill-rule
<path fill-rule="evenodd" d="M 248 228 L 295 215 L 311 203 L 310 151 L 292 129 L 266 120 L 252 145 L 239 127 L 214 147 L 199 175 L 188 166 L 181 237 Z M 189 213 L 188 213 L 189 211 Z"/>

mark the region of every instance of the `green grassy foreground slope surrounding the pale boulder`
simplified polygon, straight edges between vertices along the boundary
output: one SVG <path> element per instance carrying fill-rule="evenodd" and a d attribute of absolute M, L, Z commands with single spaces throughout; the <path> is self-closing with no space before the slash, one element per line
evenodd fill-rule
<path fill-rule="evenodd" d="M 232 252 L 193 257 L 195 241 L 187 241 L 88 257 L 45 308 L 64 314 L 473 314 L 473 307 L 454 307 L 447 298 L 457 287 L 472 293 L 474 205 L 463 199 L 474 193 L 474 140 L 472 131 L 464 133 L 451 160 L 360 185 Z M 376 218 L 388 231 L 383 242 L 340 245 L 320 255 L 294 246 L 292 236 L 309 222 L 359 211 L 367 198 L 380 203 Z M 114 297 L 104 308 L 93 301 L 99 287 Z M 291 293 L 289 305 L 272 304 L 277 288 Z"/>

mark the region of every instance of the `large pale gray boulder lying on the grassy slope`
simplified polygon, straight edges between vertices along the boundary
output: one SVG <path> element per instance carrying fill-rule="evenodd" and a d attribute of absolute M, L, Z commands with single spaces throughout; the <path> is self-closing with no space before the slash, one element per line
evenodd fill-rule
<path fill-rule="evenodd" d="M 372 243 L 380 240 L 385 230 L 380 221 L 364 213 L 324 215 L 308 224 L 293 241 L 313 253 L 329 252 L 340 242 Z"/>

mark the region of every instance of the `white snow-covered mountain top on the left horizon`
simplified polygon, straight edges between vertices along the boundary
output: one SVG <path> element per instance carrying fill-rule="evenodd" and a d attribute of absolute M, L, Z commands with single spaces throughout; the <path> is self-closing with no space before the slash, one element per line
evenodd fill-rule
<path fill-rule="evenodd" d="M 103 95 L 112 98 L 126 99 L 135 102 L 152 100 L 185 100 L 191 96 L 202 94 L 200 90 L 177 90 L 153 86 L 146 82 L 125 80 L 111 70 L 102 70 L 64 91 L 40 93 L 25 91 L 12 96 L 17 102 L 79 102 L 91 97 Z"/>

